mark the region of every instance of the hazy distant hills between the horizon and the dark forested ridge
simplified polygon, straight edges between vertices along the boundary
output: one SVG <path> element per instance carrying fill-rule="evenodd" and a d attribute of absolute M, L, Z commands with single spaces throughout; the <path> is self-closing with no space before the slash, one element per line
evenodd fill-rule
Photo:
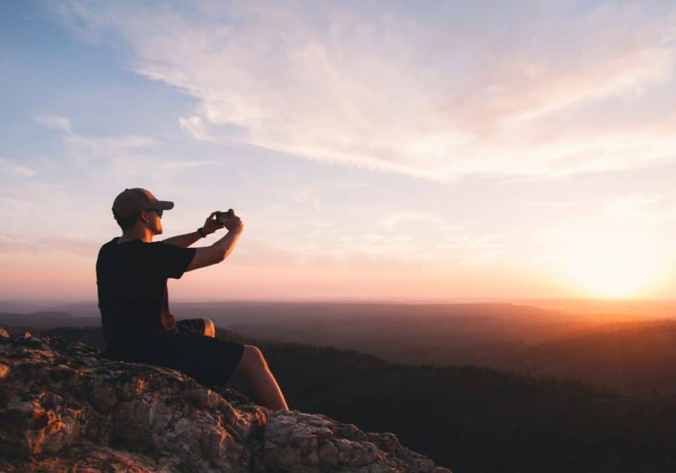
<path fill-rule="evenodd" d="M 174 303 L 172 312 L 177 319 L 212 319 L 243 337 L 357 350 L 389 362 L 486 366 L 594 384 L 622 395 L 676 394 L 675 305 L 645 306 L 641 312 L 637 302 L 569 301 L 567 307 L 586 312 L 564 312 L 506 303 L 224 302 Z M 100 325 L 95 304 L 55 309 L 3 311 L 0 324 Z"/>

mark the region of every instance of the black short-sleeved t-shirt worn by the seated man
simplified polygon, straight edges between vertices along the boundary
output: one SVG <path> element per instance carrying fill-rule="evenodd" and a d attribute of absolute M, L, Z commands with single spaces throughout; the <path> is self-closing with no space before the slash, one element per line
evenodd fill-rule
<path fill-rule="evenodd" d="M 167 279 L 179 279 L 194 248 L 119 237 L 103 245 L 96 260 L 98 307 L 110 352 L 143 350 L 153 334 L 176 328 L 169 312 Z"/>

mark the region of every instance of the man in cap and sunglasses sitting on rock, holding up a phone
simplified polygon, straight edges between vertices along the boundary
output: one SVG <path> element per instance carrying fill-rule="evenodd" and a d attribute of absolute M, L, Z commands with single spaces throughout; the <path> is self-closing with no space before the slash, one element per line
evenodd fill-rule
<path fill-rule="evenodd" d="M 125 189 L 113 202 L 123 234 L 104 244 L 96 260 L 104 355 L 176 368 L 205 384 L 224 384 L 233 371 L 242 371 L 260 404 L 275 411 L 288 409 L 256 346 L 218 340 L 212 321 L 176 321 L 169 312 L 167 278 L 179 279 L 186 271 L 221 262 L 244 228 L 230 209 L 226 224 L 218 223 L 214 212 L 193 233 L 152 242 L 162 233 L 163 211 L 173 207 L 173 202 L 158 200 L 142 188 Z M 211 246 L 188 248 L 223 227 L 228 233 Z"/>

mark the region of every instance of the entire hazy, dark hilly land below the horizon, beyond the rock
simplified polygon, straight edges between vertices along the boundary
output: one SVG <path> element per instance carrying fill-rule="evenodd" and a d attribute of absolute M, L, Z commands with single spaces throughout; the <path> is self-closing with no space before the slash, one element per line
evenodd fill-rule
<path fill-rule="evenodd" d="M 172 310 L 260 346 L 292 409 L 394 431 L 454 471 L 617 472 L 676 466 L 665 456 L 676 421 L 670 307 L 598 319 L 504 303 Z M 92 304 L 3 312 L 0 325 L 105 346 Z M 231 385 L 247 393 L 242 378 Z"/>

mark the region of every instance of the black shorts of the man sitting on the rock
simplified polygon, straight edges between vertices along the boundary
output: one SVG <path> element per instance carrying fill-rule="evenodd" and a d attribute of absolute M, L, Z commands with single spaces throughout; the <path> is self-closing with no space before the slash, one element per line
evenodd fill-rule
<path fill-rule="evenodd" d="M 147 343 L 145 339 L 132 343 L 131 350 L 107 350 L 103 356 L 177 369 L 200 384 L 226 384 L 242 360 L 244 345 L 206 337 L 202 319 L 180 320 L 176 325 L 170 332 L 151 332 Z"/>

